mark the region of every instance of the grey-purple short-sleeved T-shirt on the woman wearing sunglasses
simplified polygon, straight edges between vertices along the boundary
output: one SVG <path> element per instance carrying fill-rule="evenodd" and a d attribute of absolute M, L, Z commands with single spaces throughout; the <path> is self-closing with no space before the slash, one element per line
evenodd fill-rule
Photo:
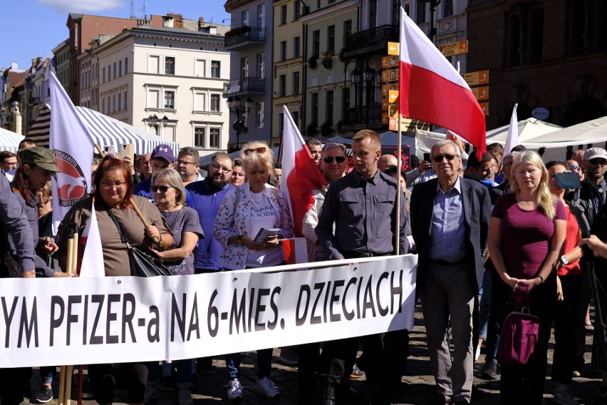
<path fill-rule="evenodd" d="M 175 248 L 181 246 L 182 232 L 194 232 L 199 237 L 204 237 L 204 232 L 200 226 L 200 220 L 198 218 L 198 212 L 190 207 L 182 207 L 184 211 L 179 223 L 172 224 L 175 221 L 175 217 L 179 214 L 179 211 L 172 212 L 160 212 L 167 225 L 171 227 L 173 232 L 173 243 Z M 196 250 L 190 253 L 187 259 L 179 262 L 165 262 L 165 265 L 171 270 L 171 275 L 193 275 L 194 274 L 194 255 Z"/>

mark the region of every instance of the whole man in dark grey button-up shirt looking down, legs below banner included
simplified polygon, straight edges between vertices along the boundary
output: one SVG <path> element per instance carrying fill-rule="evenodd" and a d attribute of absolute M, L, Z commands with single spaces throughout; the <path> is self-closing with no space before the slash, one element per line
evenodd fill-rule
<path fill-rule="evenodd" d="M 395 253 L 396 193 L 400 193 L 399 253 L 408 253 L 405 235 L 408 213 L 405 196 L 396 180 L 378 170 L 381 143 L 378 133 L 360 130 L 353 137 L 354 170 L 331 183 L 323 212 L 318 219 L 316 235 L 327 260 L 392 255 Z M 335 235 L 333 235 L 335 224 Z M 386 391 L 400 384 L 406 359 L 403 331 L 361 337 L 364 354 L 358 366 L 366 373 L 373 394 L 372 404 L 387 404 Z M 321 357 L 321 374 L 328 386 L 323 405 L 335 404 L 331 385 L 340 384 L 346 359 L 356 353 L 358 339 L 326 342 Z"/>

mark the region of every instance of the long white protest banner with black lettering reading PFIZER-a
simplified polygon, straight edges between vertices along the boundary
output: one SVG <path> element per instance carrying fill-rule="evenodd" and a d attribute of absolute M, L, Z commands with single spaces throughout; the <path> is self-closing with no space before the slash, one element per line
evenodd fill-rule
<path fill-rule="evenodd" d="M 4 279 L 0 367 L 190 359 L 411 329 L 416 268 L 403 255 L 299 272 Z"/>

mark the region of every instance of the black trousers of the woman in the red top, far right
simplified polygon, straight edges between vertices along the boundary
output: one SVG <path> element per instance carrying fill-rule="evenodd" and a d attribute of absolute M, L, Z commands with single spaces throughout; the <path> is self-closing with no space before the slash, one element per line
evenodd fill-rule
<path fill-rule="evenodd" d="M 563 302 L 554 309 L 554 359 L 552 379 L 569 384 L 576 367 L 578 316 L 581 302 L 581 275 L 561 276 Z"/>

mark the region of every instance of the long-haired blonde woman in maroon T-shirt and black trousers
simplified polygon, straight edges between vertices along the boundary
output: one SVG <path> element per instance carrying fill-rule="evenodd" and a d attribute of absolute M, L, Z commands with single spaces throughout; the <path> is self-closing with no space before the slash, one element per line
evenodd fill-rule
<path fill-rule="evenodd" d="M 525 285 L 541 326 L 533 357 L 524 369 L 502 366 L 502 404 L 541 404 L 548 340 L 556 302 L 556 274 L 566 234 L 564 205 L 550 193 L 548 171 L 540 156 L 526 151 L 514 156 L 512 193 L 497 199 L 489 227 L 489 255 L 497 274 L 515 289 Z M 502 312 L 503 308 L 492 308 Z"/>

